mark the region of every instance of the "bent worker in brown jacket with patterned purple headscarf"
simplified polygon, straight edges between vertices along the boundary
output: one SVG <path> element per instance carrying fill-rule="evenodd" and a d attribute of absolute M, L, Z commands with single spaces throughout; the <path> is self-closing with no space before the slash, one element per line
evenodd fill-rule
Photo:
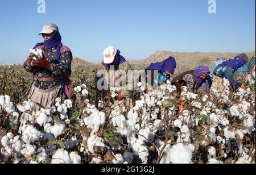
<path fill-rule="evenodd" d="M 212 84 L 212 77 L 209 74 L 210 69 L 207 66 L 199 66 L 172 79 L 172 85 L 176 86 L 179 93 L 181 86 L 187 86 L 188 91 L 205 95 L 209 93 Z"/>

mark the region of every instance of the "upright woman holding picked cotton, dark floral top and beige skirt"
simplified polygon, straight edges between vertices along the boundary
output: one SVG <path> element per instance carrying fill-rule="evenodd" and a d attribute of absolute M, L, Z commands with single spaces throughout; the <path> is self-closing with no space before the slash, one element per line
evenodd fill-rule
<path fill-rule="evenodd" d="M 47 23 L 39 35 L 43 36 L 44 42 L 36 44 L 34 49 L 42 49 L 43 57 L 31 53 L 24 62 L 24 69 L 33 73 L 28 99 L 33 102 L 34 111 L 51 106 L 57 97 L 71 97 L 71 50 L 61 43 L 56 24 Z"/>

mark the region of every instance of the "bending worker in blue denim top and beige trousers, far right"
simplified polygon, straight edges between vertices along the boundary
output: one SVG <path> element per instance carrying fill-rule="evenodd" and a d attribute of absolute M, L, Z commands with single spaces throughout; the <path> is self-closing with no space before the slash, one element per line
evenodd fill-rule
<path fill-rule="evenodd" d="M 240 82 L 236 82 L 234 80 L 234 73 L 236 73 L 236 71 L 245 64 L 246 61 L 238 55 L 234 57 L 234 59 L 230 59 L 218 65 L 217 68 L 215 68 L 213 71 L 214 79 L 212 89 L 216 89 L 220 95 L 225 96 L 225 86 L 223 78 L 226 78 L 229 81 L 230 85 L 233 86 L 235 89 L 238 89 L 239 87 L 245 89 L 245 84 L 241 84 Z"/>

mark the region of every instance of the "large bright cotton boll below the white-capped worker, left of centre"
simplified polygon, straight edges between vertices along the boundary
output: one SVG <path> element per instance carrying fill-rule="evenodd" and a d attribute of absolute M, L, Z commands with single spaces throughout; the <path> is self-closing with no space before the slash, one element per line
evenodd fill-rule
<path fill-rule="evenodd" d="M 87 128 L 92 130 L 92 134 L 95 134 L 100 130 L 100 126 L 105 124 L 105 120 L 105 113 L 95 110 L 90 116 L 84 119 L 84 122 Z"/>

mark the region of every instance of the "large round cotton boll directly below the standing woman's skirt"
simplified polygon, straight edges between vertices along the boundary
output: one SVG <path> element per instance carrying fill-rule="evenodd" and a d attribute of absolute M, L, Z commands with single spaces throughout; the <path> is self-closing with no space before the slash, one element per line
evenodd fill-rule
<path fill-rule="evenodd" d="M 39 141 L 41 132 L 36 130 L 33 126 L 25 126 L 22 128 L 22 140 L 26 144 L 34 143 Z"/>

